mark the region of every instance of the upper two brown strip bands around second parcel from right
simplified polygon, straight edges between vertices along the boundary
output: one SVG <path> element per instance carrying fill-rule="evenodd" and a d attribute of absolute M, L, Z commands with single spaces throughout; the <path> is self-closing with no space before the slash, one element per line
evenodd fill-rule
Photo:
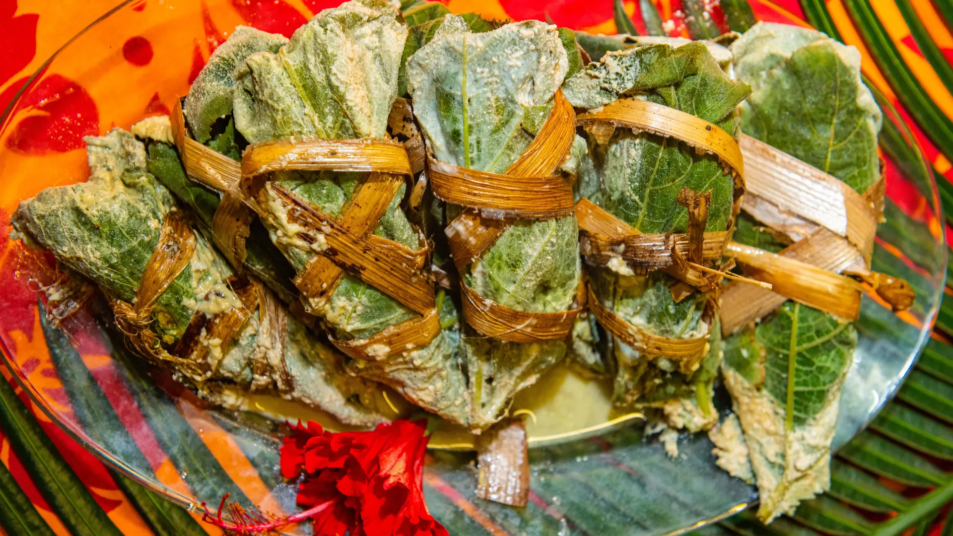
<path fill-rule="evenodd" d="M 638 98 L 623 98 L 603 107 L 594 113 L 580 113 L 578 124 L 593 134 L 597 142 L 605 144 L 616 128 L 632 129 L 667 137 L 694 147 L 700 153 L 715 155 L 731 173 L 735 180 L 732 203 L 732 218 L 727 231 L 707 232 L 703 227 L 689 230 L 689 234 L 648 235 L 640 234 L 627 223 L 618 219 L 592 203 L 580 199 L 576 205 L 579 228 L 584 232 L 580 251 L 587 256 L 587 262 L 604 266 L 611 258 L 625 260 L 636 274 L 644 275 L 653 270 L 666 269 L 673 276 L 699 286 L 710 287 L 718 276 L 707 274 L 702 262 L 720 258 L 724 246 L 731 237 L 734 216 L 740 210 L 742 194 L 745 191 L 743 160 L 738 142 L 718 125 L 709 123 L 691 113 L 655 104 Z M 683 189 L 679 192 L 679 203 L 688 205 L 691 210 L 699 211 L 700 204 L 696 193 Z M 692 197 L 691 199 L 689 197 Z M 696 219 L 707 219 L 697 214 Z M 678 252 L 677 254 L 674 252 Z M 689 259 L 699 266 L 676 263 L 677 255 L 692 252 Z M 675 266 L 674 268 L 670 268 Z"/>

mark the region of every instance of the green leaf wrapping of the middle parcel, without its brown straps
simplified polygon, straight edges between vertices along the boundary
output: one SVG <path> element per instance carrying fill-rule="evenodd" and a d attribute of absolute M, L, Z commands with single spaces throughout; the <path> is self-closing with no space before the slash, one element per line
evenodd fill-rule
<path fill-rule="evenodd" d="M 556 27 L 525 21 L 474 33 L 462 18 L 448 15 L 433 40 L 408 60 L 407 85 L 436 159 L 504 173 L 553 109 L 567 69 Z M 448 212 L 456 216 L 459 207 Z M 480 297 L 511 309 L 565 311 L 578 287 L 577 236 L 574 216 L 515 219 L 460 278 Z M 477 335 L 463 340 L 475 429 L 497 422 L 517 391 L 566 353 L 562 340 L 521 343 Z"/>

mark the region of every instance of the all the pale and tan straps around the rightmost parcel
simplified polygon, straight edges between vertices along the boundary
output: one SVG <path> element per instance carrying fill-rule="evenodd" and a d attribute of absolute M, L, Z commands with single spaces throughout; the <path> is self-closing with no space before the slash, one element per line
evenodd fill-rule
<path fill-rule="evenodd" d="M 773 291 L 729 285 L 722 293 L 721 330 L 728 335 L 794 299 L 843 320 L 860 315 L 861 278 L 894 310 L 913 303 L 900 278 L 871 272 L 877 223 L 882 218 L 883 177 L 862 195 L 837 177 L 742 135 L 748 187 L 742 210 L 795 241 L 777 255 L 737 244 L 729 249 L 745 275 L 774 283 Z"/>

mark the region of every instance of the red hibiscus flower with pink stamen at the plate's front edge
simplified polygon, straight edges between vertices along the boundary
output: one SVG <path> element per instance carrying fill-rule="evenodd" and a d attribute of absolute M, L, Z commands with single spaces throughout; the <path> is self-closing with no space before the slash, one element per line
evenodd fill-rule
<path fill-rule="evenodd" d="M 373 432 L 325 431 L 318 423 L 292 426 L 281 447 L 281 473 L 304 475 L 297 502 L 308 509 L 269 519 L 231 507 L 233 523 L 206 521 L 234 532 L 262 533 L 311 518 L 315 536 L 449 536 L 423 499 L 423 421 L 380 424 Z M 224 501 L 223 501 L 224 505 Z"/>

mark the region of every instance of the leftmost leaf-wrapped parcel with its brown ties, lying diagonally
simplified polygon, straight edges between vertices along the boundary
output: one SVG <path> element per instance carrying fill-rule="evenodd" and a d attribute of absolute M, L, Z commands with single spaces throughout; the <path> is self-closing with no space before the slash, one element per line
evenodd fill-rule
<path fill-rule="evenodd" d="M 213 402 L 276 392 L 343 423 L 382 421 L 374 384 L 345 374 L 344 356 L 233 272 L 147 171 L 141 141 L 120 129 L 84 141 L 89 181 L 23 201 L 12 223 L 99 285 L 138 354 Z"/>

